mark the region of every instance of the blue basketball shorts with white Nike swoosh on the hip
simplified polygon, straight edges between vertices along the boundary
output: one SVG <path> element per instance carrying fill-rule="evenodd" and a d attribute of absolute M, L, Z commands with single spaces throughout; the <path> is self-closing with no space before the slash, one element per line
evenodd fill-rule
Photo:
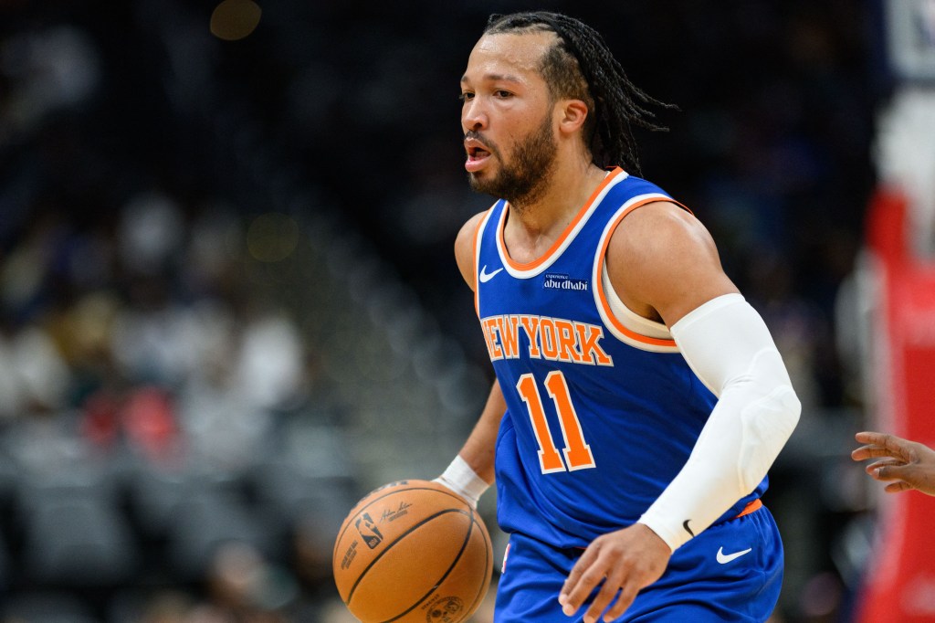
<path fill-rule="evenodd" d="M 558 549 L 513 533 L 496 592 L 496 623 L 580 622 L 558 592 L 582 549 Z M 677 549 L 615 623 L 766 621 L 783 584 L 783 542 L 766 507 L 712 526 Z M 599 587 L 598 587 L 599 588 Z M 595 590 L 597 595 L 597 589 Z"/>

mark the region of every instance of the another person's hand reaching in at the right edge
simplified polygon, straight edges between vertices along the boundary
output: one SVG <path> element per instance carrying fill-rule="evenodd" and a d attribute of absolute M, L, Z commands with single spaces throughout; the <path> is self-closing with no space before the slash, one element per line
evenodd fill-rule
<path fill-rule="evenodd" d="M 893 481 L 885 486 L 887 493 L 917 489 L 935 496 L 935 450 L 885 433 L 859 432 L 854 437 L 866 445 L 852 452 L 851 458 L 862 461 L 884 457 L 864 469 L 874 480 Z"/>

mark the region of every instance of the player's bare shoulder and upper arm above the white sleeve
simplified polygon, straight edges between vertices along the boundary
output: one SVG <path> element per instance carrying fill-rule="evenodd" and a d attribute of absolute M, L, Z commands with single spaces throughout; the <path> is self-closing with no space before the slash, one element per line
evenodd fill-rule
<path fill-rule="evenodd" d="M 627 307 L 657 315 L 667 326 L 712 298 L 738 292 L 708 230 L 668 202 L 628 215 L 611 238 L 607 261 L 611 283 Z"/>

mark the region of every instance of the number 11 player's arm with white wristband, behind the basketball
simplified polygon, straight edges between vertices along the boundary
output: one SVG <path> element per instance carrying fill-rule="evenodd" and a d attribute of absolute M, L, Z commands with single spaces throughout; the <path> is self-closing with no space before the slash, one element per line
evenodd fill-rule
<path fill-rule="evenodd" d="M 471 290 L 474 289 L 474 237 L 483 216 L 484 212 L 474 215 L 461 228 L 454 241 L 454 258 Z M 506 401 L 495 381 L 468 441 L 451 465 L 436 479 L 436 482 L 449 487 L 474 506 L 477 506 L 482 493 L 494 482 L 494 446 L 500 420 L 506 410 Z"/>

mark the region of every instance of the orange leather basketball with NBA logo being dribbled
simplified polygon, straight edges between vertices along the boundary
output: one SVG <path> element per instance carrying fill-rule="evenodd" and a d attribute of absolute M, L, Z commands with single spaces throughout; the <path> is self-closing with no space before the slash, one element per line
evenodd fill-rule
<path fill-rule="evenodd" d="M 341 600 L 363 623 L 460 623 L 490 587 L 493 547 L 467 501 L 438 483 L 404 480 L 357 502 L 332 568 Z"/>

